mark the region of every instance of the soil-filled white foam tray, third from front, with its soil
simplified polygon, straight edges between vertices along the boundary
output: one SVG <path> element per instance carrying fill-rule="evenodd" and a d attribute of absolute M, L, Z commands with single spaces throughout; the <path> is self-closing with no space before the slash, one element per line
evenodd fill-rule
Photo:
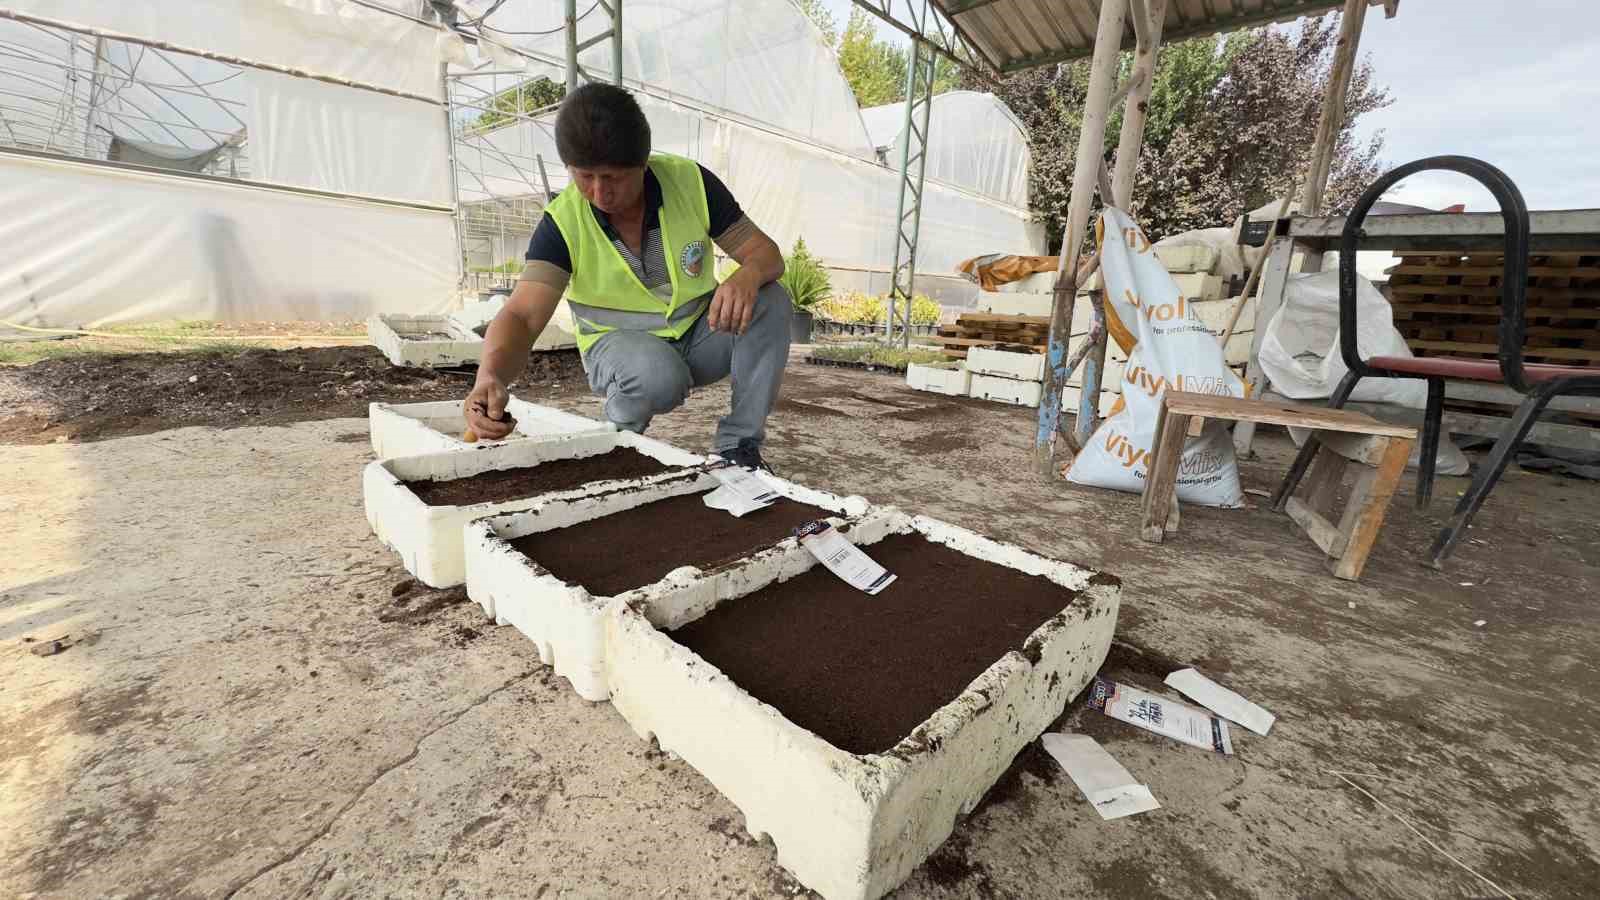
<path fill-rule="evenodd" d="M 616 450 L 626 453 L 606 456 Z M 595 456 L 606 458 L 590 461 Z M 573 464 L 565 464 L 568 461 Z M 701 477 L 698 466 L 704 461 L 698 453 L 634 432 L 590 431 L 379 460 L 362 474 L 362 492 L 366 522 L 379 540 L 400 554 L 406 570 L 430 588 L 453 588 L 467 577 L 461 552 L 467 522 L 509 509 L 538 509 L 552 500 L 635 490 L 669 479 L 693 484 Z M 546 466 L 550 466 L 549 477 L 539 474 Z M 637 474 L 643 469 L 654 474 Z M 498 472 L 514 474 L 506 477 Z M 485 488 L 485 480 L 499 490 Z M 451 503 L 450 496 L 430 493 L 435 485 L 454 490 L 453 482 L 467 485 L 462 495 L 470 496 L 458 495 L 462 501 Z M 419 496 L 418 488 L 429 495 L 430 503 Z"/>

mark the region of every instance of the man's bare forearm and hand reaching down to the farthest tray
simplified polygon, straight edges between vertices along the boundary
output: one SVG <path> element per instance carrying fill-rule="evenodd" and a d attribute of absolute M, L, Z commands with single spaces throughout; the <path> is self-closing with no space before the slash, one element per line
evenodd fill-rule
<path fill-rule="evenodd" d="M 534 280 L 517 282 L 510 299 L 483 335 L 478 378 L 462 404 L 467 428 L 486 440 L 510 434 L 515 423 L 506 418 L 507 386 L 528 368 L 528 352 L 555 314 L 562 291 Z"/>

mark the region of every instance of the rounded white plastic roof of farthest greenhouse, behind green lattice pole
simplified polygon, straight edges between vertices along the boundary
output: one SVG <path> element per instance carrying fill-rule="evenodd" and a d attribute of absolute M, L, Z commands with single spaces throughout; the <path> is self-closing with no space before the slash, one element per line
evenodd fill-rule
<path fill-rule="evenodd" d="M 899 167 L 904 152 L 906 104 L 861 110 L 875 147 Z M 928 110 L 926 176 L 1016 207 L 1027 205 L 1027 133 L 1000 98 L 978 91 L 949 91 Z"/>

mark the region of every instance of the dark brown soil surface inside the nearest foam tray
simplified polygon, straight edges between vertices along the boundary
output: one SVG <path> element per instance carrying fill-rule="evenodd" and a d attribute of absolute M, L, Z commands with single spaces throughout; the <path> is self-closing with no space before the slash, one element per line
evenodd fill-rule
<path fill-rule="evenodd" d="M 885 753 L 1077 596 L 922 535 L 866 551 L 898 575 L 877 596 L 818 565 L 672 639 L 834 746 Z"/>

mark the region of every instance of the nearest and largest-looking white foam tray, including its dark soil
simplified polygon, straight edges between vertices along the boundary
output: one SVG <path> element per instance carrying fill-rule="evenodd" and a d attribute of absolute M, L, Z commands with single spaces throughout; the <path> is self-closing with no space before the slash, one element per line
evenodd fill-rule
<path fill-rule="evenodd" d="M 619 597 L 606 684 L 634 732 L 714 783 L 802 884 L 874 900 L 1090 682 L 1122 586 L 893 509 L 845 536 L 899 581 L 842 593 L 790 544 L 720 570 L 715 596 Z"/>

